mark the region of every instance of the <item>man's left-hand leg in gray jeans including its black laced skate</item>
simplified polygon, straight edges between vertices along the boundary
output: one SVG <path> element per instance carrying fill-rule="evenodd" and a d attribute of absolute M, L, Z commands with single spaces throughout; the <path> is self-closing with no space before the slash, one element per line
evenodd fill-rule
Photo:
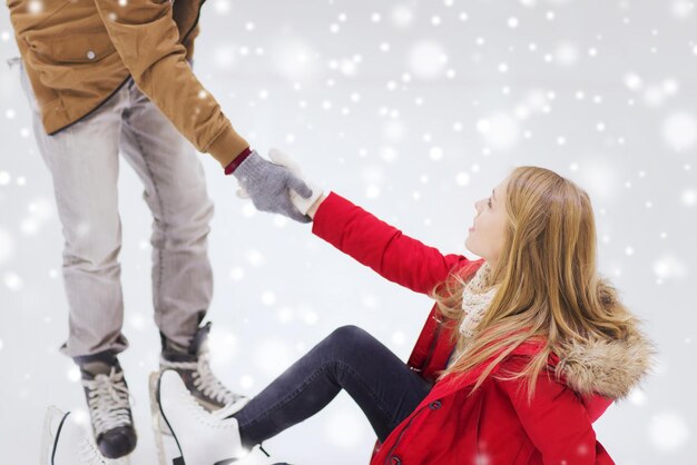
<path fill-rule="evenodd" d="M 20 72 L 39 150 L 53 180 L 65 238 L 62 271 L 70 333 L 61 352 L 80 365 L 102 454 L 120 457 L 136 446 L 128 387 L 116 358 L 127 347 L 121 334 L 121 224 L 117 202 L 124 96 L 117 92 L 90 117 L 48 136 L 23 69 Z"/>

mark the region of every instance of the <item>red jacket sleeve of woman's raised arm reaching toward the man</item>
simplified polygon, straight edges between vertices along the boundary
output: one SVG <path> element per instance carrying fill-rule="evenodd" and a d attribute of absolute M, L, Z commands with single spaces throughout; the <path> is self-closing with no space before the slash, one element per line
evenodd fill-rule
<path fill-rule="evenodd" d="M 334 192 L 317 209 L 312 231 L 382 277 L 422 294 L 469 263 L 404 236 Z"/>

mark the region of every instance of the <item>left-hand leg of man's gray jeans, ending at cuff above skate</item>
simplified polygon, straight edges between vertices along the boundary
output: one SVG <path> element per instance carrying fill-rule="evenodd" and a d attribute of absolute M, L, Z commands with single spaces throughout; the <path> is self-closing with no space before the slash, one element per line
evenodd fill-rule
<path fill-rule="evenodd" d="M 21 70 L 32 106 L 33 132 L 49 168 L 65 238 L 62 275 L 70 309 L 70 335 L 61 352 L 70 357 L 121 352 L 124 299 L 118 254 L 118 96 L 100 111 L 48 136 Z"/>

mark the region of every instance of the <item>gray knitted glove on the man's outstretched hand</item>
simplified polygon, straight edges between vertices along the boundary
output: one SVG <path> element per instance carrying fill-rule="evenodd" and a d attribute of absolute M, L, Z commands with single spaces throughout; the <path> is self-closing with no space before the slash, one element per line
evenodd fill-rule
<path fill-rule="evenodd" d="M 300 222 L 312 221 L 291 201 L 291 189 L 304 198 L 312 197 L 312 189 L 288 168 L 272 164 L 253 150 L 233 176 L 257 210 L 281 214 Z"/>

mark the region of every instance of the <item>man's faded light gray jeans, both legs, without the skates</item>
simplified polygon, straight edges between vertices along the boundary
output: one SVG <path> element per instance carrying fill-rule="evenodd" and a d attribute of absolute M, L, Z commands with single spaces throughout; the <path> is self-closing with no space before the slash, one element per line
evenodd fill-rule
<path fill-rule="evenodd" d="M 187 347 L 213 294 L 207 236 L 214 209 L 194 147 L 132 80 L 86 118 L 48 136 L 21 66 L 20 73 L 65 238 L 70 330 L 61 352 L 82 359 L 128 346 L 121 333 L 119 154 L 141 179 L 153 214 L 155 321 L 169 340 Z"/>

